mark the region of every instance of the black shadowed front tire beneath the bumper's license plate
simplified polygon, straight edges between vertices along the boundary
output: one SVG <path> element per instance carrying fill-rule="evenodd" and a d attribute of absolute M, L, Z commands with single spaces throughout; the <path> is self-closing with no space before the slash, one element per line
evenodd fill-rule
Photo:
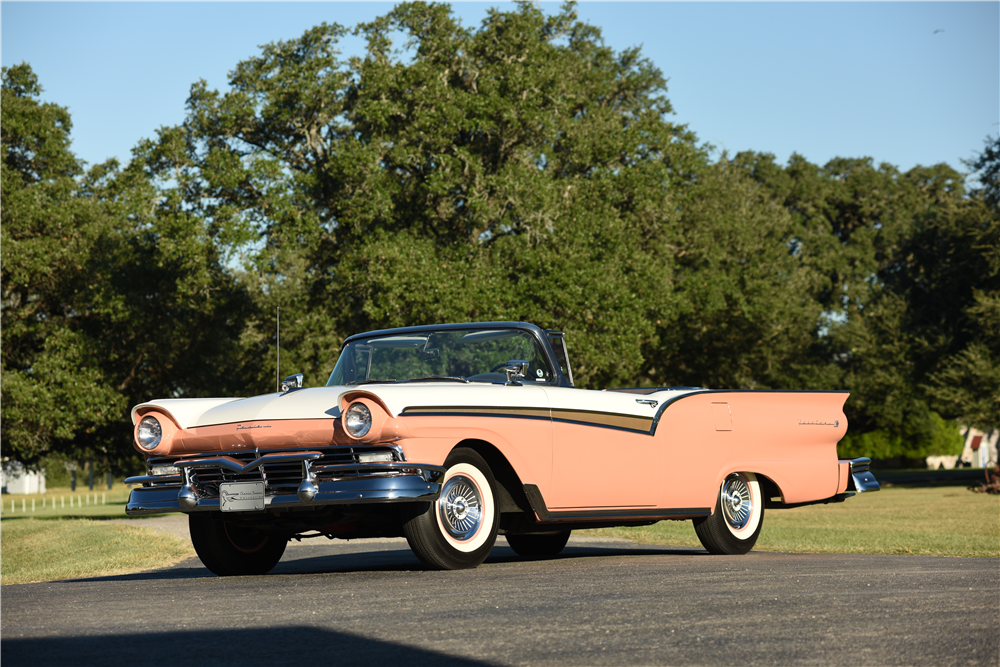
<path fill-rule="evenodd" d="M 288 544 L 280 535 L 239 526 L 215 512 L 189 514 L 188 529 L 198 558 L 220 577 L 267 574 Z"/>

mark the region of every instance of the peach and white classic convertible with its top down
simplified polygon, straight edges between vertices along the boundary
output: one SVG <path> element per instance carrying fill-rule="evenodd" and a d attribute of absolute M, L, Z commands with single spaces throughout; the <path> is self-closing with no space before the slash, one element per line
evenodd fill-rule
<path fill-rule="evenodd" d="M 691 520 L 742 554 L 764 510 L 878 482 L 837 458 L 846 391 L 573 385 L 563 332 L 523 322 L 348 338 L 325 386 L 132 409 L 147 474 L 127 513 L 184 512 L 205 566 L 263 574 L 290 539 L 405 536 L 428 567 L 526 557 L 570 531 Z"/>

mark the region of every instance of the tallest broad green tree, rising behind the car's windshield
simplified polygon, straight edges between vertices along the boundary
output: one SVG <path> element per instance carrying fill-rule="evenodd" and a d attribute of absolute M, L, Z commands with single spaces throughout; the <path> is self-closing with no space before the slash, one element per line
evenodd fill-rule
<path fill-rule="evenodd" d="M 362 57 L 321 25 L 241 62 L 225 94 L 195 85 L 152 149 L 227 252 L 252 249 L 261 304 L 297 262 L 291 336 L 326 344 L 295 361 L 322 374 L 357 330 L 527 319 L 573 335 L 583 382 L 634 378 L 654 315 L 677 310 L 669 222 L 707 162 L 662 74 L 571 6 L 471 30 L 404 4 L 356 31 Z"/>

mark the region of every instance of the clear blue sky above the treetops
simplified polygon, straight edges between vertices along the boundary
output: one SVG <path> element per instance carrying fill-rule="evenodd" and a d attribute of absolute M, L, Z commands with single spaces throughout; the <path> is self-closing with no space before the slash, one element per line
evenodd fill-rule
<path fill-rule="evenodd" d="M 4 1 L 0 62 L 29 62 L 42 98 L 69 108 L 80 158 L 127 161 L 140 139 L 183 121 L 195 81 L 225 89 L 262 44 L 392 6 Z M 511 5 L 454 11 L 475 26 L 490 6 Z M 1000 132 L 1000 2 L 583 2 L 578 12 L 614 49 L 641 46 L 669 79 L 673 120 L 730 153 L 961 169 Z M 342 44 L 345 56 L 361 46 Z"/>

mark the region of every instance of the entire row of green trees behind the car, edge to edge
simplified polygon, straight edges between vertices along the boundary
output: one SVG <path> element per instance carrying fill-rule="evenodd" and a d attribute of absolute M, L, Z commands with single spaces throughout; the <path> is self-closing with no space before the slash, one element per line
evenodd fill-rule
<path fill-rule="evenodd" d="M 401 4 L 229 83 L 85 169 L 3 68 L 5 460 L 134 469 L 131 406 L 273 390 L 278 307 L 280 374 L 313 386 L 359 331 L 524 320 L 566 331 L 581 387 L 849 389 L 842 456 L 997 426 L 1000 139 L 968 175 L 713 159 L 572 4 Z"/>

